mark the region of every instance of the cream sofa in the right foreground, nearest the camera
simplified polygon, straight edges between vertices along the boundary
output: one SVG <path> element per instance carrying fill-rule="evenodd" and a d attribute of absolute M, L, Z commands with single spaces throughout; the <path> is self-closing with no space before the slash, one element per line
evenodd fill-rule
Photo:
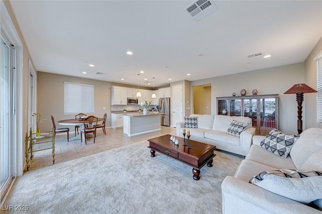
<path fill-rule="evenodd" d="M 277 169 L 322 171 L 322 129 L 310 128 L 302 132 L 291 147 L 287 158 L 281 158 L 262 148 L 260 143 L 264 138 L 265 136 L 254 136 L 253 145 L 246 158 L 239 164 L 234 176 L 227 176 L 223 180 L 221 184 L 223 213 L 322 213 L 309 205 L 284 197 L 280 195 L 281 193 L 276 194 L 249 183 L 253 176 L 263 171 Z M 285 194 L 310 195 L 313 191 L 317 191 L 322 198 L 322 176 L 315 178 L 318 179 L 317 185 L 292 185 L 286 190 L 290 192 L 285 192 Z M 287 179 L 283 177 L 282 184 L 274 183 L 274 188 L 279 189 Z M 307 177 L 290 179 L 306 179 L 307 181 Z M 301 180 L 294 182 L 301 182 Z M 322 204 L 322 199 L 314 201 Z"/>

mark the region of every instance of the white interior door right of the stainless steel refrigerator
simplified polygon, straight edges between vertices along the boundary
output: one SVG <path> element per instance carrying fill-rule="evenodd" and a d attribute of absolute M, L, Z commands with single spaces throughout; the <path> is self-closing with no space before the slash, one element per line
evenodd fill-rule
<path fill-rule="evenodd" d="M 183 121 L 182 85 L 172 87 L 172 126 Z"/>

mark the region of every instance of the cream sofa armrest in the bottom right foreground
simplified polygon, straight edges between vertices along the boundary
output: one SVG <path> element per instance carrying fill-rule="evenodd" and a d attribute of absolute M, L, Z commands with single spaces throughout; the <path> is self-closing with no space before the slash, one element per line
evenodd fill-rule
<path fill-rule="evenodd" d="M 221 183 L 222 213 L 321 213 L 319 210 L 232 176 Z"/>

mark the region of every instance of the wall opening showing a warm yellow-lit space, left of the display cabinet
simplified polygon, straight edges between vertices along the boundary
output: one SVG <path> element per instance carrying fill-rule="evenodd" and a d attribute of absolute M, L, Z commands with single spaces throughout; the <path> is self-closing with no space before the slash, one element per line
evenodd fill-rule
<path fill-rule="evenodd" d="M 193 113 L 211 114 L 211 84 L 193 87 Z"/>

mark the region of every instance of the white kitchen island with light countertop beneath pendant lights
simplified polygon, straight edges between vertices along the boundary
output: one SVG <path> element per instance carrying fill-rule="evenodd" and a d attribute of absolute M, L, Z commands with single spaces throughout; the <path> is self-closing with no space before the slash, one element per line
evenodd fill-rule
<path fill-rule="evenodd" d="M 130 113 L 123 115 L 123 133 L 127 136 L 135 136 L 152 131 L 161 130 L 161 113 L 143 114 Z"/>

